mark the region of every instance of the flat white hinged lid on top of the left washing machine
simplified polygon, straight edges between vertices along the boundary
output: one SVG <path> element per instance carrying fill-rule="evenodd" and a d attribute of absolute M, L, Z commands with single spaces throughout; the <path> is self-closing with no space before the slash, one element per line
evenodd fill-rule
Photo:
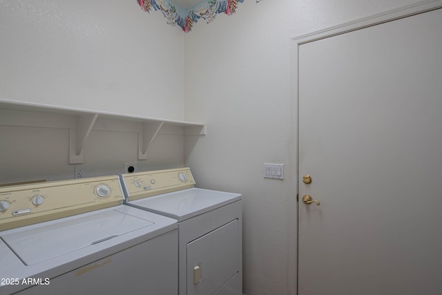
<path fill-rule="evenodd" d="M 95 245 L 154 223 L 117 209 L 1 236 L 25 265 Z"/>

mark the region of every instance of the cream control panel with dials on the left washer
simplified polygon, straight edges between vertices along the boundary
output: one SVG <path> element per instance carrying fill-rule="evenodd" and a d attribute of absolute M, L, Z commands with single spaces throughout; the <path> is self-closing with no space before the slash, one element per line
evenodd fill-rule
<path fill-rule="evenodd" d="M 0 188 L 0 231 L 122 204 L 117 175 Z"/>

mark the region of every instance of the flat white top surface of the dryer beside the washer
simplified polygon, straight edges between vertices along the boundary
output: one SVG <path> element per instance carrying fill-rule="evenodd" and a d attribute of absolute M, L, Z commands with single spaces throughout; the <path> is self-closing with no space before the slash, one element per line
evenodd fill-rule
<path fill-rule="evenodd" d="M 241 200 L 239 193 L 192 188 L 135 200 L 128 204 L 182 221 L 238 200 Z"/>

